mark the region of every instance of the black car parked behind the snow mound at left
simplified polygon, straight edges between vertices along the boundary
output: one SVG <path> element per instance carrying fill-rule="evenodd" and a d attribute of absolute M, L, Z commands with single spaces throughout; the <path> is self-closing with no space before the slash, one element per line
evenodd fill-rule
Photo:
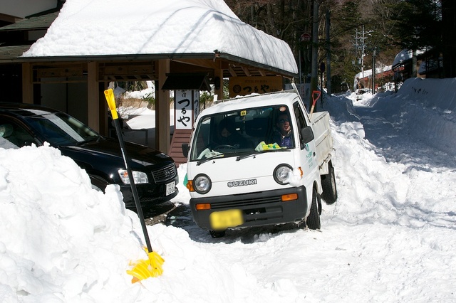
<path fill-rule="evenodd" d="M 48 142 L 85 169 L 95 189 L 118 184 L 125 206 L 135 209 L 118 139 L 103 137 L 64 112 L 39 105 L 0 102 L 0 147 L 17 148 Z M 175 161 L 160 151 L 125 142 L 142 206 L 177 196 Z"/>

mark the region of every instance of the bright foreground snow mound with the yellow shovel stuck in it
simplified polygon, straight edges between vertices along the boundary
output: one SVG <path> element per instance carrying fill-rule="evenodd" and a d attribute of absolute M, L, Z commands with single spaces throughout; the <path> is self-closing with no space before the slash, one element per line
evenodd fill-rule
<path fill-rule="evenodd" d="M 51 147 L 0 149 L 0 163 L 1 302 L 254 299 L 232 293 L 256 287 L 242 267 L 220 264 L 185 230 L 165 225 L 148 227 L 152 249 L 166 257 L 164 278 L 132 285 L 126 270 L 145 258 L 145 244 L 138 216 L 125 209 L 116 186 L 105 195 L 94 191 L 86 172 Z M 177 292 L 176 285 L 187 287 Z"/>

